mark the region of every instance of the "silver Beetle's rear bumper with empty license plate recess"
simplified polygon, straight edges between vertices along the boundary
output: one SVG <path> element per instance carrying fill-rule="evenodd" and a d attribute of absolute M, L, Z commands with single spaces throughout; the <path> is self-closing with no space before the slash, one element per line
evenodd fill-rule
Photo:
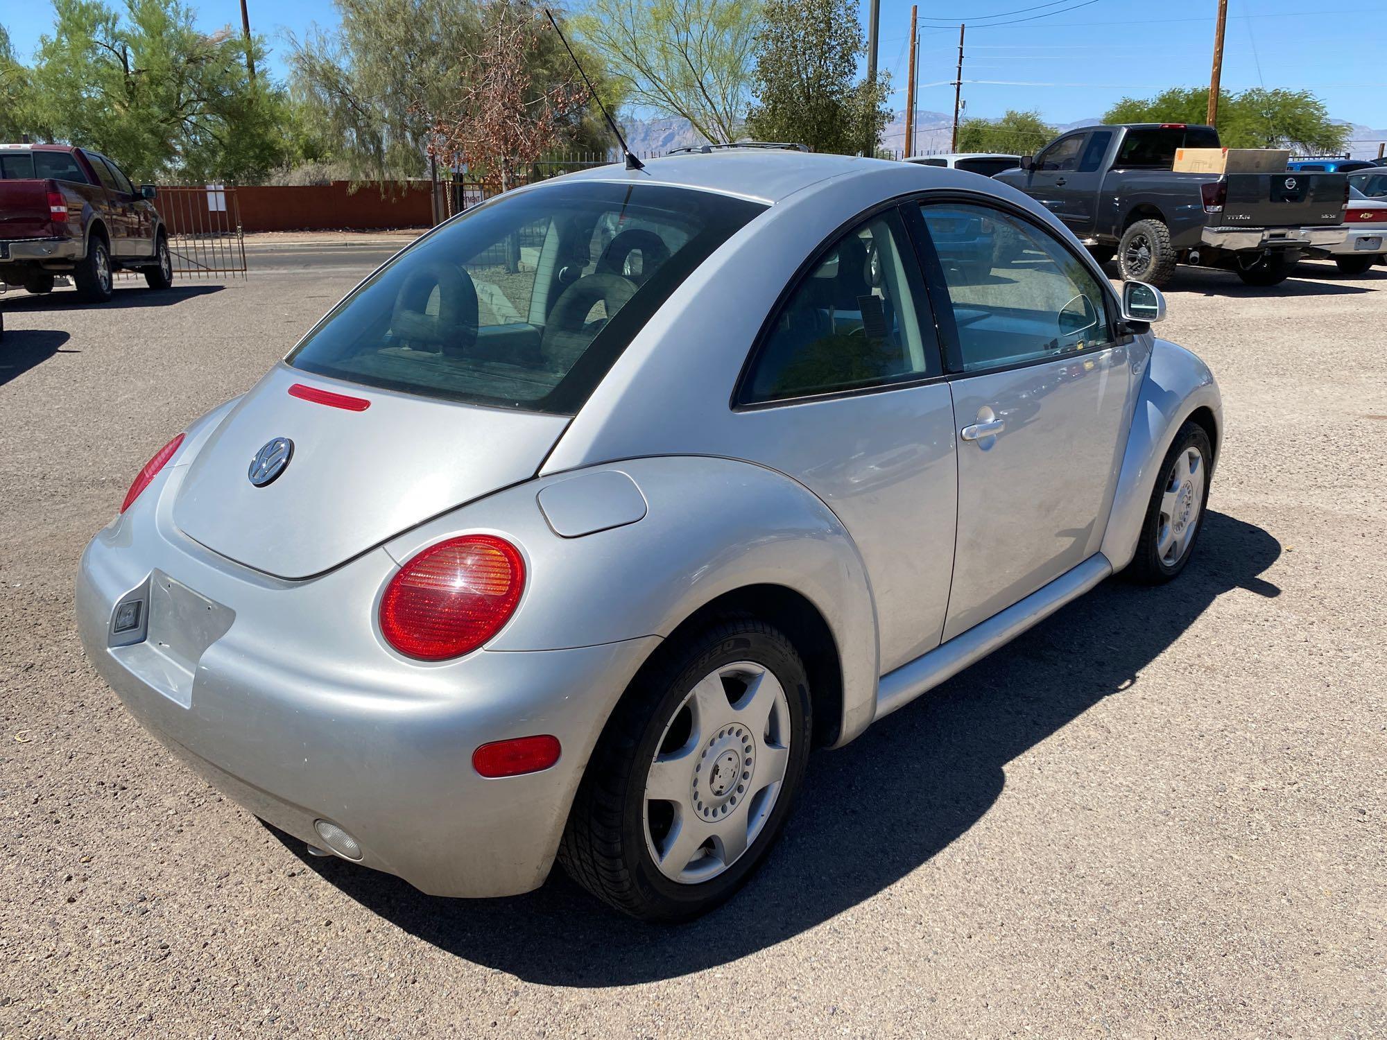
<path fill-rule="evenodd" d="M 540 886 L 613 691 L 659 639 L 405 661 L 372 636 L 395 567 L 384 551 L 309 582 L 236 574 L 179 544 L 154 501 L 164 484 L 92 541 L 76 581 L 87 657 L 140 724 L 262 820 L 315 846 L 315 821 L 336 824 L 359 863 L 426 893 Z M 132 593 L 144 628 L 122 636 L 114 613 Z M 473 770 L 479 745 L 535 734 L 562 745 L 549 770 Z"/>

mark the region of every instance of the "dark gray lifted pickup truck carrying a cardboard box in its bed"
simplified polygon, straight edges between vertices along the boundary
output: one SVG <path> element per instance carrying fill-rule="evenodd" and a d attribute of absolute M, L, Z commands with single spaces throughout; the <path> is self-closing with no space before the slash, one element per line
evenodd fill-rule
<path fill-rule="evenodd" d="M 1250 286 L 1284 280 L 1309 245 L 1344 240 L 1343 173 L 1175 173 L 1176 148 L 1218 148 L 1212 126 L 1085 126 L 996 179 L 1064 220 L 1122 277 L 1165 284 L 1176 263 L 1225 268 Z"/>

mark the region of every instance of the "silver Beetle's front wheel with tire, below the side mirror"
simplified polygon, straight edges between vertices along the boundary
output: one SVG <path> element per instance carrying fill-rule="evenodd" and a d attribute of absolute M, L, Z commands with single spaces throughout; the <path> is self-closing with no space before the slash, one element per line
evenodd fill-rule
<path fill-rule="evenodd" d="M 1196 456 L 1198 466 L 1189 463 Z M 1209 501 L 1209 463 L 1214 449 L 1198 423 L 1180 427 L 1151 491 L 1142 520 L 1142 538 L 1126 575 L 1143 585 L 1164 585 L 1175 578 L 1194 555 Z M 1186 463 L 1182 466 L 1182 462 Z M 1189 488 L 1184 489 L 1184 483 Z"/>

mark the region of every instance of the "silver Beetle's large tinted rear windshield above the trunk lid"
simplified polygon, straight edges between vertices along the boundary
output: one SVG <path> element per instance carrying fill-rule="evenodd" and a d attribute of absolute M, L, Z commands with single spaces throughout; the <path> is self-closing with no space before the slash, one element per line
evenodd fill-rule
<path fill-rule="evenodd" d="M 426 397 L 574 415 L 651 315 L 764 208 L 656 184 L 502 196 L 399 254 L 287 361 Z"/>

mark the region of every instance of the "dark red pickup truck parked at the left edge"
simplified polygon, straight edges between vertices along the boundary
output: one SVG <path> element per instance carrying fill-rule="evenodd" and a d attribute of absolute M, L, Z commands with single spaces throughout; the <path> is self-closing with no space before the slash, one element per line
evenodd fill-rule
<path fill-rule="evenodd" d="M 83 298 L 104 302 L 123 268 L 168 288 L 173 265 L 154 194 L 89 148 L 0 144 L 0 280 L 49 293 L 55 275 L 71 275 Z"/>

